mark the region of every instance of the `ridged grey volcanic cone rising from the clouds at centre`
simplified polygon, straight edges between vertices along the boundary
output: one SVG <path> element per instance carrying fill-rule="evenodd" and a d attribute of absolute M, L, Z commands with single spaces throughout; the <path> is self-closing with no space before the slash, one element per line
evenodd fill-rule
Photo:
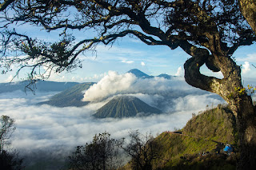
<path fill-rule="evenodd" d="M 122 118 L 135 117 L 138 116 L 138 113 L 149 115 L 152 113 L 162 113 L 162 111 L 147 105 L 137 97 L 122 96 L 114 97 L 114 99 L 109 101 L 106 105 L 103 105 L 102 108 L 98 109 L 93 116 L 97 118 Z"/>

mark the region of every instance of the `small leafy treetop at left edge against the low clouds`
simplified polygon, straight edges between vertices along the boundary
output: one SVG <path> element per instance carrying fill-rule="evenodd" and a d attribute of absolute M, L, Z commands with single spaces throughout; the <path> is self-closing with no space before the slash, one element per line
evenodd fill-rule
<path fill-rule="evenodd" d="M 14 119 L 10 118 L 9 116 L 2 115 L 0 118 L 0 152 L 5 151 L 4 146 L 5 144 L 9 144 L 8 141 L 10 139 L 10 136 L 16 129 L 14 127 Z"/>

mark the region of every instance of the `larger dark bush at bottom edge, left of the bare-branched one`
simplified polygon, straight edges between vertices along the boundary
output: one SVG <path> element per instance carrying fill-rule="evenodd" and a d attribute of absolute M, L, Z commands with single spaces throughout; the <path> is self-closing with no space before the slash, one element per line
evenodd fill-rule
<path fill-rule="evenodd" d="M 94 136 L 90 144 L 78 146 L 69 156 L 70 168 L 81 170 L 111 170 L 118 168 L 118 141 L 107 132 Z"/>

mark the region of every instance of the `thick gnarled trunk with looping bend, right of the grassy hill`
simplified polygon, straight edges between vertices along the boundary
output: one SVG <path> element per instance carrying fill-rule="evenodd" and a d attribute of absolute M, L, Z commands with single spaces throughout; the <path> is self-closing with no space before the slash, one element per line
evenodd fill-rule
<path fill-rule="evenodd" d="M 221 70 L 224 78 L 207 77 L 200 67 L 211 61 Z M 209 67 L 208 67 L 209 68 Z M 186 82 L 194 87 L 217 93 L 230 105 L 237 122 L 239 160 L 238 169 L 256 167 L 256 112 L 251 97 L 242 86 L 241 69 L 230 58 L 220 53 L 210 55 L 206 49 L 198 49 L 184 64 Z"/>

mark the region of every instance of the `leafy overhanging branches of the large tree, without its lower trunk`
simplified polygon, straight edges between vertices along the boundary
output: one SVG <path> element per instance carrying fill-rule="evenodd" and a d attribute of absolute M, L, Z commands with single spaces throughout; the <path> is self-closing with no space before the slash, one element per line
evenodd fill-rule
<path fill-rule="evenodd" d="M 14 63 L 21 68 L 31 67 L 33 77 L 43 74 L 37 70 L 42 65 L 55 72 L 73 69 L 80 66 L 81 53 L 94 49 L 98 43 L 108 45 L 126 35 L 148 45 L 167 45 L 171 49 L 180 46 L 191 56 L 209 49 L 210 53 L 203 50 L 206 55 L 201 62 L 218 71 L 221 68 L 214 65 L 214 54 L 230 57 L 239 46 L 250 45 L 255 40 L 237 5 L 235 0 L 15 1 L 2 10 L 0 21 L 2 56 L 9 56 L 2 61 L 6 68 L 3 71 Z M 30 38 L 13 29 L 14 24 L 38 26 L 48 32 L 59 30 L 61 38 L 58 42 Z M 90 34 L 96 30 L 98 34 L 75 42 L 70 34 L 73 30 Z M 11 52 L 17 50 L 19 55 L 28 56 L 11 58 L 14 54 Z"/>

